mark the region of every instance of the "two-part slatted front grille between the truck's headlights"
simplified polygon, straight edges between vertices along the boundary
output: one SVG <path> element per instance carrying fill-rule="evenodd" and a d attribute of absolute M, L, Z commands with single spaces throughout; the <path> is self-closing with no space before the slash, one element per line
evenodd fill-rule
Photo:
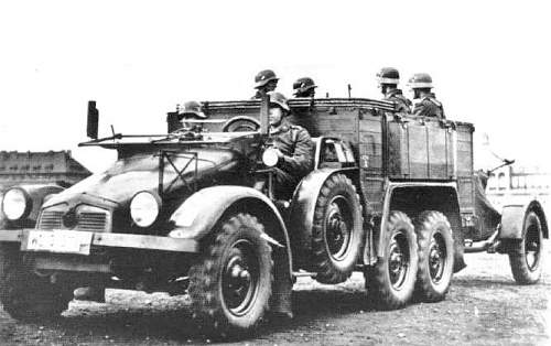
<path fill-rule="evenodd" d="M 40 229 L 66 229 L 63 225 L 63 212 L 44 210 L 40 217 L 37 228 Z M 80 212 L 77 213 L 77 223 L 74 229 L 87 231 L 106 231 L 108 218 L 107 213 Z"/>

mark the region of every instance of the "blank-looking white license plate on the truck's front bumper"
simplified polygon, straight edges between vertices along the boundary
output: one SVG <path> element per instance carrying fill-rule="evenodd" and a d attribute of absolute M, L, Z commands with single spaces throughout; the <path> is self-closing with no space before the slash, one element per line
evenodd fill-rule
<path fill-rule="evenodd" d="M 75 230 L 31 230 L 25 250 L 89 255 L 93 235 Z"/>

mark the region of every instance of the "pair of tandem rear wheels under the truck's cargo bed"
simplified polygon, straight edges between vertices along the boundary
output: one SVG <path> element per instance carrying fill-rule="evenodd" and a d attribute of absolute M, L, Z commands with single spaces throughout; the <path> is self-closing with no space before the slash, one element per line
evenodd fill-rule
<path fill-rule="evenodd" d="M 395 310 L 413 296 L 425 302 L 443 300 L 453 275 L 447 218 L 439 212 L 424 212 L 413 226 L 404 213 L 391 212 L 382 237 L 382 257 L 365 271 L 371 303 Z"/>

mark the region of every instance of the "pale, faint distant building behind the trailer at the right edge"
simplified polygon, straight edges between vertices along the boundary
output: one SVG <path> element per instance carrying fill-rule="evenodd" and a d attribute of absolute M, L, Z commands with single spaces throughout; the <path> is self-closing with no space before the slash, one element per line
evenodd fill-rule
<path fill-rule="evenodd" d="M 486 194 L 498 210 L 505 204 L 523 204 L 536 198 L 551 212 L 551 172 L 538 167 L 499 169 L 489 175 Z"/>

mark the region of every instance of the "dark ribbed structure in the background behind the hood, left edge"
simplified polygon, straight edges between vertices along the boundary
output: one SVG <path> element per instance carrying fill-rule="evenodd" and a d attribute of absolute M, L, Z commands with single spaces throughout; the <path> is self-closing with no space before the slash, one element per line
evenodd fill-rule
<path fill-rule="evenodd" d="M 0 191 L 28 183 L 73 185 L 90 174 L 71 151 L 0 151 Z"/>

